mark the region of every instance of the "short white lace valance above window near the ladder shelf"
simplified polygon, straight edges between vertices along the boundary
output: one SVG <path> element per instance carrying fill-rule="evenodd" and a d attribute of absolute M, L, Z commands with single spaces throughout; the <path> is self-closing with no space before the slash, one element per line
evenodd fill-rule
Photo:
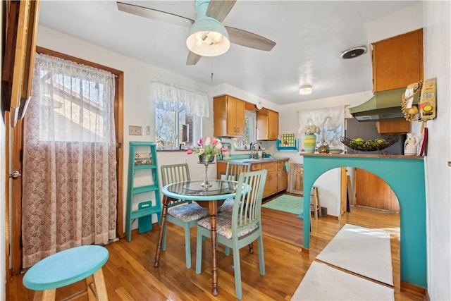
<path fill-rule="evenodd" d="M 210 117 L 209 97 L 203 92 L 187 90 L 163 82 L 152 82 L 152 94 L 154 99 L 166 102 L 168 108 L 173 106 L 173 102 L 183 102 L 189 116 Z"/>

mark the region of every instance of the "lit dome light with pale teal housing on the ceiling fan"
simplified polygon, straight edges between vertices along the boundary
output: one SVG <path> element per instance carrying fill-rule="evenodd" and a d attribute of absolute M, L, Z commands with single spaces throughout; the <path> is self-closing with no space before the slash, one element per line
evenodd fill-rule
<path fill-rule="evenodd" d="M 204 16 L 191 25 L 186 46 L 199 56 L 220 56 L 230 48 L 230 39 L 221 22 Z"/>

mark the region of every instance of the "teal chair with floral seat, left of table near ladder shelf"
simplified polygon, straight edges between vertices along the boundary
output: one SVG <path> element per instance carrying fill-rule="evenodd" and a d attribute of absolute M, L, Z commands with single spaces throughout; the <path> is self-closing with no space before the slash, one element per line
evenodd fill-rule
<path fill-rule="evenodd" d="M 172 164 L 161 166 L 161 182 L 163 186 L 190 180 L 190 169 L 188 164 Z M 199 219 L 210 216 L 209 210 L 199 206 L 196 202 L 185 199 L 170 198 L 166 224 L 163 227 L 163 240 L 161 250 L 166 251 L 166 233 L 168 222 L 174 223 L 185 230 L 185 260 L 186 267 L 191 269 L 191 238 L 190 229 L 196 226 Z M 163 226 L 163 225 L 161 225 Z"/>

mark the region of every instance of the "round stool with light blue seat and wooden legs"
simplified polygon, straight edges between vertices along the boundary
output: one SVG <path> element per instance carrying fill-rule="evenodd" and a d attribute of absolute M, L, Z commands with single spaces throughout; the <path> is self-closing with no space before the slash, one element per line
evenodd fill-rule
<path fill-rule="evenodd" d="M 32 266 L 23 277 L 35 300 L 55 300 L 56 288 L 86 279 L 89 300 L 108 300 L 102 266 L 109 252 L 99 245 L 83 245 L 55 253 Z M 79 295 L 77 293 L 75 295 Z"/>

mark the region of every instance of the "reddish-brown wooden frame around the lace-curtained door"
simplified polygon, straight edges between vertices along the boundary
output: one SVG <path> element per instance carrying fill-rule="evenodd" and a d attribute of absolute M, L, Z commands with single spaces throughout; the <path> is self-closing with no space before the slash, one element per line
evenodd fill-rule
<path fill-rule="evenodd" d="M 114 101 L 114 124 L 116 131 L 116 177 L 117 177 L 117 219 L 116 219 L 116 235 L 118 238 L 123 238 L 124 235 L 124 226 L 123 226 L 123 80 L 124 74 L 123 71 L 117 70 L 114 68 L 109 68 L 107 66 L 102 66 L 97 63 L 92 63 L 90 61 L 85 61 L 83 59 L 78 59 L 74 56 L 68 56 L 66 54 L 62 54 L 58 51 L 53 51 L 50 49 L 45 49 L 42 47 L 36 47 L 36 51 L 42 54 L 48 54 L 50 56 L 57 56 L 61 59 L 67 59 L 70 61 L 74 61 L 76 63 L 81 63 L 87 66 L 93 66 L 95 68 L 107 70 L 114 75 L 116 75 L 116 91 L 115 91 L 115 101 Z M 23 146 L 23 121 L 18 123 L 15 128 L 13 128 L 13 143 L 18 143 L 20 141 L 20 150 L 22 150 Z M 20 139 L 17 139 L 20 137 Z M 8 146 L 7 146 L 8 147 Z M 17 169 L 22 173 L 22 158 L 20 152 L 17 154 L 10 153 L 10 157 L 13 159 L 18 159 L 20 161 L 20 169 Z M 16 166 L 12 166 L 15 168 Z M 17 182 L 17 180 L 16 180 Z M 14 182 L 14 183 L 16 183 Z M 11 197 L 13 198 L 12 207 L 11 207 L 11 221 L 7 220 L 7 226 L 11 226 L 11 262 L 12 266 L 10 267 L 9 274 L 11 276 L 20 274 L 22 269 L 22 181 L 20 180 L 20 188 L 13 190 Z M 19 195 L 20 197 L 16 197 Z M 7 227 L 8 228 L 8 227 Z M 8 254 L 7 254 L 8 255 Z M 8 262 L 9 257 L 6 258 Z"/>

